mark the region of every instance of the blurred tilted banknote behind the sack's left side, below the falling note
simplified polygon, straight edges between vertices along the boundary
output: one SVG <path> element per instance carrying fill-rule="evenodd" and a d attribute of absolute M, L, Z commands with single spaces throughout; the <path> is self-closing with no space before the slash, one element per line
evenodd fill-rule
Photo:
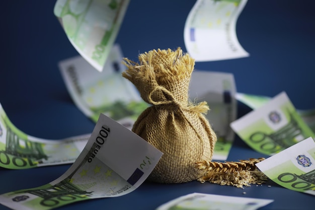
<path fill-rule="evenodd" d="M 101 73 L 91 71 L 93 67 L 81 56 L 60 61 L 59 68 L 72 100 L 86 116 L 97 122 L 103 113 L 131 129 L 148 104 L 121 76 L 125 70 L 121 61 L 120 47 L 114 45 Z"/>

